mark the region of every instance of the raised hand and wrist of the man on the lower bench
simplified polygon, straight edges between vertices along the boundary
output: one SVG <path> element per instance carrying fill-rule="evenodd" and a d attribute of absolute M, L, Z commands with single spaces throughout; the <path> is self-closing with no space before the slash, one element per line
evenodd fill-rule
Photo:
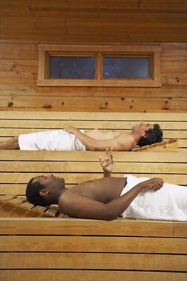
<path fill-rule="evenodd" d="M 102 157 L 99 155 L 100 164 L 103 169 L 104 177 L 111 177 L 111 172 L 113 170 L 113 154 L 112 154 L 113 147 L 106 149 L 105 159 L 103 160 Z"/>

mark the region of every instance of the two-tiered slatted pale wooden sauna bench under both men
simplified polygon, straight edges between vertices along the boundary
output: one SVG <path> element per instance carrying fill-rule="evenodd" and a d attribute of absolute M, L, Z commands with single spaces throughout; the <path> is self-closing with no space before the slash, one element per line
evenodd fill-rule
<path fill-rule="evenodd" d="M 1 140 L 67 123 L 130 132 L 142 121 L 161 124 L 164 140 L 178 138 L 178 151 L 114 152 L 113 175 L 159 176 L 186 185 L 186 121 L 181 113 L 1 112 Z M 52 217 L 49 208 L 45 217 L 47 209 L 22 214 L 31 177 L 61 175 L 71 188 L 102 177 L 99 155 L 104 152 L 1 151 L 2 280 L 186 280 L 184 222 Z M 11 194 L 18 197 L 11 199 Z"/>

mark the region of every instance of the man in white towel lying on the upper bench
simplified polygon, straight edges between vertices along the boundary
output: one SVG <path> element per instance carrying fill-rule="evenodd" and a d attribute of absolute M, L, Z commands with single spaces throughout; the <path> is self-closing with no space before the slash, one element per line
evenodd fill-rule
<path fill-rule="evenodd" d="M 113 147 L 115 151 L 129 151 L 136 145 L 146 146 L 161 141 L 160 126 L 142 122 L 133 126 L 130 134 L 98 129 L 84 132 L 73 126 L 66 126 L 63 130 L 22 134 L 1 142 L 0 149 L 105 151 L 107 147 Z"/>

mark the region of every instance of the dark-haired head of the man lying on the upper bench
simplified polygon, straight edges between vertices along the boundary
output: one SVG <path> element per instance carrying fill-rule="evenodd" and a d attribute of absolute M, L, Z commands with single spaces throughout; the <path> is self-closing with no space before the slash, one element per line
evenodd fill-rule
<path fill-rule="evenodd" d="M 138 146 L 146 146 L 154 143 L 160 143 L 162 141 L 162 130 L 159 124 L 141 124 L 133 127 L 133 132 L 139 134 L 141 137 L 138 141 Z"/>

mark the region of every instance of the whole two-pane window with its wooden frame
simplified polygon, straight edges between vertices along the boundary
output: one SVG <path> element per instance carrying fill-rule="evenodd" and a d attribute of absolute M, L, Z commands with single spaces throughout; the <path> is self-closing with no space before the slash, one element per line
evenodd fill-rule
<path fill-rule="evenodd" d="M 161 87 L 160 46 L 145 46 L 133 45 L 131 52 L 112 52 L 104 50 L 102 44 L 71 44 L 62 51 L 59 44 L 38 44 L 37 85 L 59 86 L 71 80 L 71 86 L 102 87 L 107 82 L 116 87 L 144 87 L 151 82 L 151 86 Z"/>

